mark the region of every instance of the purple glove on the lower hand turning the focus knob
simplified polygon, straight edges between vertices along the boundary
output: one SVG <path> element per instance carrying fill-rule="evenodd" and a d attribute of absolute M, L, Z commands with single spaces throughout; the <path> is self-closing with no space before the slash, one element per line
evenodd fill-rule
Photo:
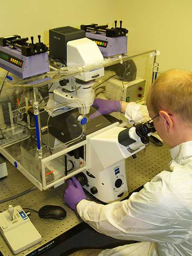
<path fill-rule="evenodd" d="M 68 187 L 65 189 L 64 201 L 68 204 L 73 210 L 76 211 L 76 204 L 79 203 L 82 199 L 86 199 L 84 190 L 76 177 L 73 177 L 72 180 L 68 180 Z"/>

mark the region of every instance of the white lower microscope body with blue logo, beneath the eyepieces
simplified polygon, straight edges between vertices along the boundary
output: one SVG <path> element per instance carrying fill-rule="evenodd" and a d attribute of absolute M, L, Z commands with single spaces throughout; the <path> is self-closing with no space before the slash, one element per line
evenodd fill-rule
<path fill-rule="evenodd" d="M 89 186 L 85 185 L 84 189 L 105 203 L 128 196 L 125 159 L 145 148 L 134 127 L 129 130 L 129 135 L 135 142 L 127 147 L 121 145 L 118 136 L 126 129 L 112 125 L 103 132 L 87 136 L 87 170 L 84 174 Z"/>

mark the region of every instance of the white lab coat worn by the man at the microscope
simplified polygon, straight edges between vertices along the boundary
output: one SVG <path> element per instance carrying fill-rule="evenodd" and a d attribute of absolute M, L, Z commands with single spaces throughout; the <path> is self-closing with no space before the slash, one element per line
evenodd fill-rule
<path fill-rule="evenodd" d="M 128 106 L 125 115 L 135 121 L 135 111 L 143 106 Z M 166 170 L 128 200 L 107 205 L 81 200 L 77 204 L 79 216 L 98 232 L 141 241 L 102 250 L 99 256 L 192 256 L 192 141 L 177 145 L 170 153 L 172 161 Z"/>

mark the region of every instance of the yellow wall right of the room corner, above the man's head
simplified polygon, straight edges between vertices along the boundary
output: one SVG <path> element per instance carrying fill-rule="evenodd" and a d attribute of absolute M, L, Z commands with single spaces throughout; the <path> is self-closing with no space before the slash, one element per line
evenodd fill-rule
<path fill-rule="evenodd" d="M 120 4 L 119 4 L 120 3 Z M 128 28 L 128 50 L 160 50 L 159 71 L 192 71 L 192 0 L 116 1 Z"/>

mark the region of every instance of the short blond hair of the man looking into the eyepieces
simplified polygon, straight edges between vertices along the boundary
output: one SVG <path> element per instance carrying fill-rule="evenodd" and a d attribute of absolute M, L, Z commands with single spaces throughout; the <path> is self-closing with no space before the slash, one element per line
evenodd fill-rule
<path fill-rule="evenodd" d="M 192 123 L 192 73 L 169 70 L 151 85 L 149 102 L 154 113 L 160 110 L 175 113 L 185 122 Z"/>

